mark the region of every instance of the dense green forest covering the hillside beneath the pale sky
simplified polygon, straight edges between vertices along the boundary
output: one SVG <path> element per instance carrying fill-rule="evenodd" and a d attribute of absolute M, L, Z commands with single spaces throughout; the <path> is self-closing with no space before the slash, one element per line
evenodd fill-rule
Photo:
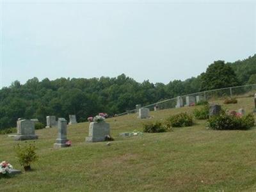
<path fill-rule="evenodd" d="M 47 115 L 78 122 L 104 112 L 109 115 L 134 109 L 136 104 L 151 104 L 188 93 L 256 83 L 256 54 L 234 63 L 214 61 L 198 77 L 168 84 L 138 83 L 122 74 L 115 78 L 60 78 L 50 81 L 36 77 L 25 84 L 15 81 L 0 90 L 0 129 L 15 127 L 17 118 L 38 118 L 45 124 Z"/>

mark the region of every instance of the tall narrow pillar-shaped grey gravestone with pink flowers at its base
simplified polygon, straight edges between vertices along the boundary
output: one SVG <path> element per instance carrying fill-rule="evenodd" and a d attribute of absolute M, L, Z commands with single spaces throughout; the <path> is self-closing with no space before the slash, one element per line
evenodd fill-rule
<path fill-rule="evenodd" d="M 67 120 L 58 118 L 58 138 L 54 143 L 54 148 L 68 147 L 67 141 Z"/>

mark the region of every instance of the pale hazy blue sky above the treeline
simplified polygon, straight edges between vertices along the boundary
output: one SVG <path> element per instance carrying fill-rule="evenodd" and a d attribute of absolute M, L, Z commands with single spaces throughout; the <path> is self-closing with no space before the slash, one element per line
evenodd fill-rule
<path fill-rule="evenodd" d="M 1 84 L 45 77 L 169 83 L 256 53 L 256 1 L 1 0 Z"/>

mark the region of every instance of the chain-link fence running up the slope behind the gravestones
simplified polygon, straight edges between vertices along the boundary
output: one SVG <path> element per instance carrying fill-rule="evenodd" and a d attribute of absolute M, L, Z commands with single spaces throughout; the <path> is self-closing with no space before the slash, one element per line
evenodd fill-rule
<path fill-rule="evenodd" d="M 205 100 L 205 101 L 211 101 L 211 100 L 220 100 L 225 99 L 227 97 L 253 97 L 256 92 L 256 84 L 246 84 L 243 86 L 234 86 L 234 87 L 228 87 L 228 88 L 221 88 L 216 90 L 209 90 L 205 92 L 198 92 L 198 93 L 191 93 L 188 95 L 182 95 L 180 97 L 175 97 L 172 99 L 166 99 L 159 102 L 156 102 L 154 104 L 150 104 L 147 106 L 141 106 L 141 108 L 148 108 L 150 111 L 156 111 L 161 109 L 171 109 L 178 107 L 178 104 L 181 104 L 180 106 L 189 106 L 191 104 L 196 104 L 196 102 Z M 179 98 L 179 102 L 177 101 Z M 124 113 L 120 113 L 116 116 L 122 116 L 127 115 L 130 113 L 137 113 L 138 107 L 136 109 L 127 110 Z"/>

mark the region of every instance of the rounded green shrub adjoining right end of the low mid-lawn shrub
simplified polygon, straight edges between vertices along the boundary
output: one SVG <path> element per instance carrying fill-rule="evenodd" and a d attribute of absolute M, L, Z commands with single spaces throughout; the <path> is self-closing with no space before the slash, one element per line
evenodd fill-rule
<path fill-rule="evenodd" d="M 194 124 L 193 117 L 188 113 L 179 113 L 167 119 L 172 127 L 188 127 Z"/>

